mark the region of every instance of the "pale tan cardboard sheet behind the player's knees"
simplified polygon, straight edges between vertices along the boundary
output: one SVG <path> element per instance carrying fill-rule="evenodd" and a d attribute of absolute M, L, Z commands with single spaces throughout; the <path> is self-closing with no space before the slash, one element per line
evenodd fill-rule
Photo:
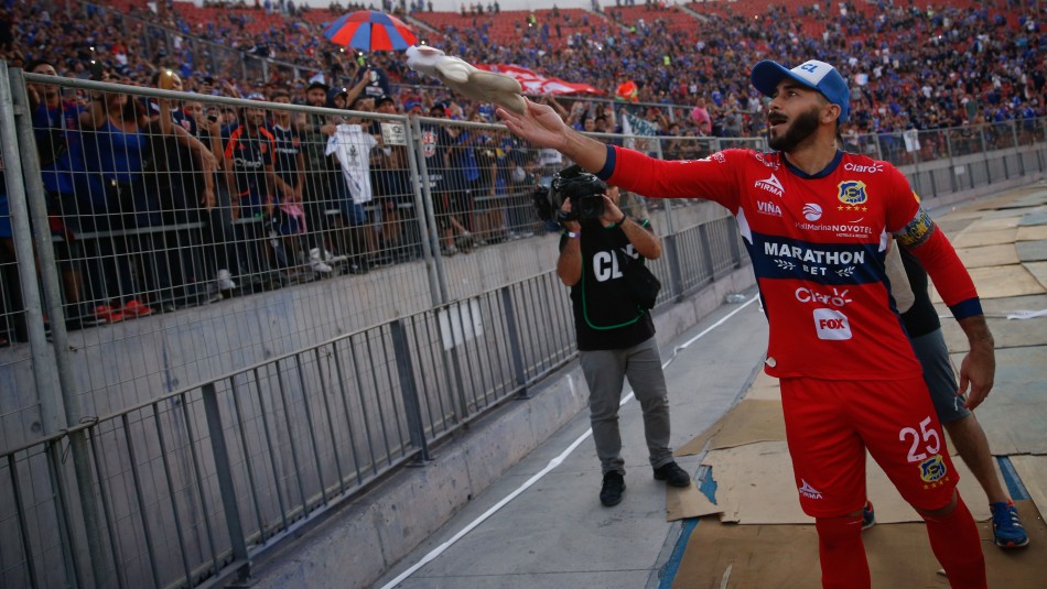
<path fill-rule="evenodd" d="M 716 504 L 723 510 L 723 522 L 740 524 L 810 523 L 800 510 L 792 477 L 792 462 L 785 441 L 762 441 L 734 448 L 713 450 L 702 463 L 712 468 L 716 481 Z M 983 497 L 978 480 L 961 460 L 953 460 L 960 476 L 960 493 Z M 884 471 L 871 457 L 866 465 L 866 488 L 876 506 L 876 520 L 883 523 L 920 522 L 920 516 L 906 503 Z M 970 502 L 971 513 L 979 521 L 989 517 L 989 505 Z"/>

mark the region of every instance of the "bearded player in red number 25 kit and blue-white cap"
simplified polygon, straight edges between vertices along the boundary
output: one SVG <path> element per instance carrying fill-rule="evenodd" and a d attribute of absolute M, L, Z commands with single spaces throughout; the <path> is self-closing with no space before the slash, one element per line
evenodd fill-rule
<path fill-rule="evenodd" d="M 498 109 L 517 135 L 552 148 L 602 179 L 661 198 L 702 197 L 737 218 L 770 336 L 765 371 L 779 379 L 803 511 L 814 517 L 822 586 L 870 587 L 861 538 L 865 450 L 927 522 L 953 587 L 984 588 L 978 528 L 956 490 L 919 362 L 885 277 L 892 236 L 927 269 L 970 340 L 960 391 L 974 408 L 993 385 L 993 338 L 952 246 L 887 162 L 839 151 L 850 90 L 831 65 L 752 73 L 770 97 L 770 152 L 725 150 L 667 162 L 566 128 L 549 107 Z"/>

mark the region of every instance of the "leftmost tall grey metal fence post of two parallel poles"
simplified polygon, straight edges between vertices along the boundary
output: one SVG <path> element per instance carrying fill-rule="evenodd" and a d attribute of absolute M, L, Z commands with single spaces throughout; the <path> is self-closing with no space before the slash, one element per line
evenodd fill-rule
<path fill-rule="evenodd" d="M 18 92 L 12 91 L 12 85 L 18 86 Z M 37 402 L 41 406 L 41 423 L 44 434 L 50 435 L 71 424 L 79 423 L 83 413 L 77 399 L 71 396 L 74 380 L 68 361 L 69 346 L 62 313 L 62 295 L 55 271 L 54 251 L 50 241 L 51 233 L 46 230 L 47 211 L 42 206 L 44 188 L 40 175 L 40 163 L 36 159 L 36 140 L 29 113 L 29 99 L 21 70 L 9 72 L 6 63 L 0 63 L 0 103 L 14 106 L 11 109 L 13 117 L 0 118 L 0 126 L 2 126 L 0 135 L 7 138 L 2 148 L 3 161 L 7 162 L 6 179 L 14 246 L 17 255 L 21 260 L 19 271 L 22 280 L 25 323 L 33 356 L 33 375 L 36 382 Z M 35 197 L 29 198 L 30 195 L 35 195 Z M 35 232 L 37 242 L 35 252 L 31 239 L 33 233 L 30 230 L 30 214 L 33 216 L 33 225 L 39 228 Z M 56 355 L 54 360 L 47 351 L 47 340 L 44 335 L 37 276 L 32 263 L 35 255 L 40 257 L 40 277 L 48 302 L 47 308 L 51 310 L 52 336 Z M 95 502 L 95 479 L 87 451 L 86 432 L 79 429 L 71 433 L 69 447 L 76 475 L 77 497 L 84 519 L 87 552 L 91 560 L 91 572 L 95 583 L 98 587 L 105 587 L 108 579 L 101 563 L 105 563 L 106 558 L 98 520 L 98 505 Z M 72 557 L 76 557 L 74 546 L 63 545 L 62 549 L 74 550 Z"/>

